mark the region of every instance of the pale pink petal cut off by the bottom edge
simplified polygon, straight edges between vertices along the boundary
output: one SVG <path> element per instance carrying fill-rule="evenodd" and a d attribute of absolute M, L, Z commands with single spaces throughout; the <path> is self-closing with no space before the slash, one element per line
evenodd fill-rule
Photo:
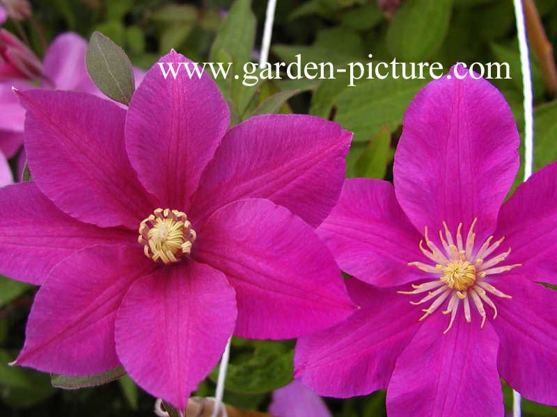
<path fill-rule="evenodd" d="M 273 391 L 269 413 L 276 417 L 331 417 L 323 399 L 296 379 Z"/>

